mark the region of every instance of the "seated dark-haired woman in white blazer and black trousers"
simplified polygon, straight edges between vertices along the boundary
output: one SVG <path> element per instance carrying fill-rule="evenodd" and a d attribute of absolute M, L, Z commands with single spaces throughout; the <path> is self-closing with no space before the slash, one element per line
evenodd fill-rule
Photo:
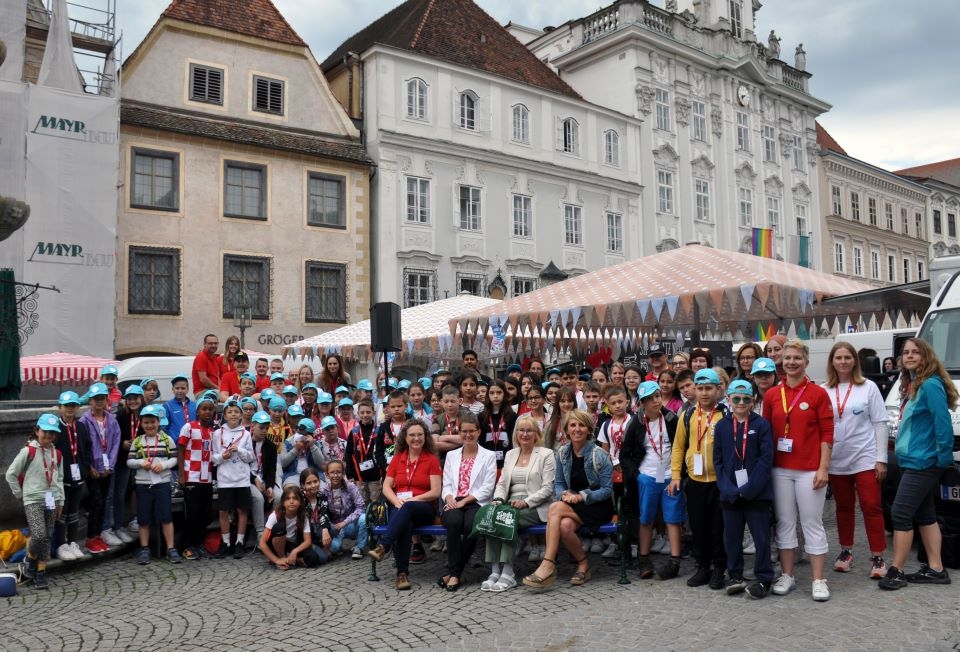
<path fill-rule="evenodd" d="M 447 453 L 443 463 L 440 489 L 440 522 L 447 528 L 447 574 L 437 584 L 447 591 L 460 588 L 460 576 L 477 547 L 477 540 L 470 537 L 473 519 L 493 498 L 497 481 L 497 456 L 480 447 L 480 422 L 473 414 L 460 417 L 460 437 L 463 447 Z"/>

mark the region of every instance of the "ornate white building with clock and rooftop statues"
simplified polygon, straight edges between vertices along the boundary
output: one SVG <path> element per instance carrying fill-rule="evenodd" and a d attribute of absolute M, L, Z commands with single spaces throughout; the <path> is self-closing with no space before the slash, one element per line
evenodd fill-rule
<path fill-rule="evenodd" d="M 667 6 L 622 0 L 527 43 L 586 99 L 643 120 L 640 254 L 749 251 L 760 227 L 777 257 L 806 262 L 806 249 L 821 268 L 814 121 L 830 105 L 809 93 L 805 54 L 790 66 L 779 40 L 757 42 L 759 3 Z"/>

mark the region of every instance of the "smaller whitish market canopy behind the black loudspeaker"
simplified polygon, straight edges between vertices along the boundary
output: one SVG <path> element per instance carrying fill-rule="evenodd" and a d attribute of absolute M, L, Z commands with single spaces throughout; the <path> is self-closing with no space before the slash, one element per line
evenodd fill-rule
<path fill-rule="evenodd" d="M 400 337 L 403 358 L 438 358 L 458 355 L 461 341 L 451 333 L 450 320 L 480 308 L 495 308 L 502 301 L 462 294 L 400 311 Z M 370 320 L 308 337 L 285 346 L 284 357 L 324 356 L 337 353 L 348 360 L 365 361 L 371 356 Z"/>

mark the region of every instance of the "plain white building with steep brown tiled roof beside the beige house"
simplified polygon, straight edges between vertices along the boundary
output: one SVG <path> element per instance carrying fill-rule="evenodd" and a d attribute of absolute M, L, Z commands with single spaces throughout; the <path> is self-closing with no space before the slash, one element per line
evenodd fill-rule
<path fill-rule="evenodd" d="M 640 120 L 584 101 L 473 2 L 410 4 L 322 64 L 378 166 L 374 301 L 514 296 L 641 255 Z"/>

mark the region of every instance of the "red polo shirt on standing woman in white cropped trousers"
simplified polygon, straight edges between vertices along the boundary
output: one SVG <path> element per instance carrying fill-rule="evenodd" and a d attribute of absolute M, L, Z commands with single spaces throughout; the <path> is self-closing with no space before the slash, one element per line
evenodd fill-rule
<path fill-rule="evenodd" d="M 833 443 L 833 404 L 825 389 L 809 378 L 796 387 L 786 383 L 771 387 L 763 395 L 763 418 L 773 430 L 775 468 L 816 471 L 820 467 L 820 445 Z M 777 450 L 776 440 L 784 436 L 788 421 L 793 451 L 783 453 Z"/>

